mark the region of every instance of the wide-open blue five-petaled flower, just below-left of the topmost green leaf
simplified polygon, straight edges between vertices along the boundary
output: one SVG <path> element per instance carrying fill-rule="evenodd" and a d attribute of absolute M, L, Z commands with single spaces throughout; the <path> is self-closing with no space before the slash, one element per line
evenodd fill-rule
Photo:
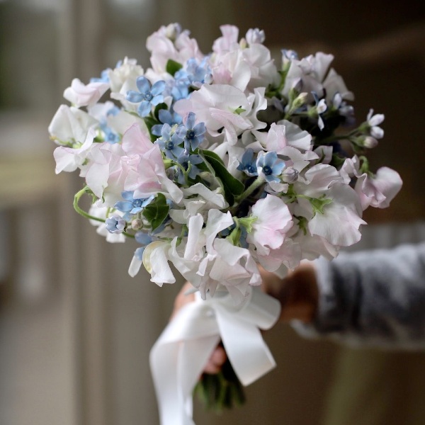
<path fill-rule="evenodd" d="M 157 106 L 164 101 L 162 92 L 165 89 L 165 81 L 157 81 L 151 87 L 149 80 L 145 77 L 137 77 L 136 86 L 139 91 L 129 90 L 127 92 L 127 100 L 132 103 L 139 103 L 137 113 L 141 117 L 149 115 L 151 106 Z"/>

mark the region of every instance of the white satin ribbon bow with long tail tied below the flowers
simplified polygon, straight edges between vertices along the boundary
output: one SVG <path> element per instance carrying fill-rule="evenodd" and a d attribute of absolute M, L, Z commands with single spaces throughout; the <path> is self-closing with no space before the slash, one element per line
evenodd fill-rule
<path fill-rule="evenodd" d="M 150 352 L 162 425 L 195 425 L 192 392 L 220 339 L 234 372 L 249 385 L 276 366 L 259 329 L 270 329 L 280 303 L 259 288 L 242 307 L 229 294 L 189 302 L 164 329 Z"/>

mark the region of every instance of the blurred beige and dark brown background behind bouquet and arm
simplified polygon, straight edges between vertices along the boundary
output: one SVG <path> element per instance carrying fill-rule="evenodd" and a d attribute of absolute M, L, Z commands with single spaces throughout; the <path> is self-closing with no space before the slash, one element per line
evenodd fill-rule
<path fill-rule="evenodd" d="M 72 209 L 78 176 L 55 176 L 47 126 L 74 77 L 123 57 L 147 67 L 147 35 L 179 22 L 203 52 L 219 26 L 266 31 L 266 45 L 332 53 L 356 115 L 385 114 L 373 169 L 404 180 L 387 210 L 368 210 L 353 249 L 425 239 L 425 13 L 420 0 L 0 0 L 0 424 L 150 425 L 149 349 L 179 285 L 128 276 L 135 246 L 107 244 Z M 424 306 L 425 308 L 425 306 Z M 197 424 L 423 424 L 424 353 L 266 334 L 278 367 L 221 416 Z"/>

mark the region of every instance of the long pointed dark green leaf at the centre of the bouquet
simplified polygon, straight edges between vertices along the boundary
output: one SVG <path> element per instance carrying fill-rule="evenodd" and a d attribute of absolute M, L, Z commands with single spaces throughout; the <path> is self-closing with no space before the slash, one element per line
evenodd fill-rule
<path fill-rule="evenodd" d="M 208 166 L 208 170 L 213 176 L 215 176 L 215 179 L 217 179 L 218 183 L 222 187 L 225 193 L 225 200 L 229 206 L 232 206 L 234 204 L 234 198 L 244 192 L 244 184 L 227 171 L 225 165 L 217 154 L 208 150 L 200 150 L 199 154 Z"/>

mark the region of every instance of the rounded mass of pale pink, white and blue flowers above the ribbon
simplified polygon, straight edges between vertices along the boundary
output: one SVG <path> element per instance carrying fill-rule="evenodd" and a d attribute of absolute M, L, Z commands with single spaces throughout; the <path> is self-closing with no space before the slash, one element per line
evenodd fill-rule
<path fill-rule="evenodd" d="M 135 240 L 131 276 L 143 265 L 174 283 L 173 264 L 203 299 L 220 288 L 243 305 L 259 265 L 284 276 L 334 258 L 361 239 L 363 210 L 387 207 L 402 182 L 369 169 L 384 116 L 356 125 L 332 55 L 282 50 L 275 62 L 263 31 L 221 30 L 204 55 L 187 30 L 163 26 L 147 38 L 149 67 L 126 57 L 74 79 L 49 131 L 56 173 L 85 181 L 76 210 L 108 242 Z"/>

